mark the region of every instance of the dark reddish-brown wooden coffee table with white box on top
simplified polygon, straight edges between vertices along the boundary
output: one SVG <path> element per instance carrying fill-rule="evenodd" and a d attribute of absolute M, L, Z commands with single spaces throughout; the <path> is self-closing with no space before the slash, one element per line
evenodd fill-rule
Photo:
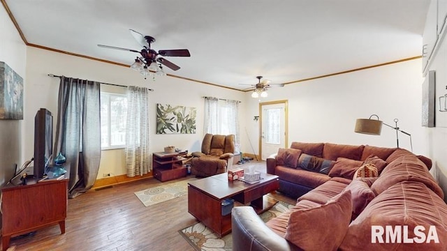
<path fill-rule="evenodd" d="M 264 196 L 279 188 L 278 176 L 261 173 L 261 181 L 254 184 L 228 181 L 226 173 L 188 183 L 188 212 L 219 236 L 230 233 L 231 214 L 222 215 L 221 201 L 234 199 L 250 204 L 256 213 L 268 211 L 278 201 Z"/>

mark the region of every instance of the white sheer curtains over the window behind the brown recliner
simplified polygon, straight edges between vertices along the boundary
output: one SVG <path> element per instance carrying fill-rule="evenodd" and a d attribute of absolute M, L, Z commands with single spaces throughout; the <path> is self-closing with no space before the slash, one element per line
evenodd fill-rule
<path fill-rule="evenodd" d="M 239 103 L 237 100 L 219 100 L 205 97 L 204 132 L 213 135 L 235 135 L 235 143 L 240 144 Z"/>

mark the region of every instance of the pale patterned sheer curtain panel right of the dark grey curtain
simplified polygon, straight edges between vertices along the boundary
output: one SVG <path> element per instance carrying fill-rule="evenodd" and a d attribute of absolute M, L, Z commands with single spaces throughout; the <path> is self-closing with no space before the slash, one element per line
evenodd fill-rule
<path fill-rule="evenodd" d="M 147 174 L 149 167 L 149 90 L 138 86 L 127 89 L 126 174 Z"/>

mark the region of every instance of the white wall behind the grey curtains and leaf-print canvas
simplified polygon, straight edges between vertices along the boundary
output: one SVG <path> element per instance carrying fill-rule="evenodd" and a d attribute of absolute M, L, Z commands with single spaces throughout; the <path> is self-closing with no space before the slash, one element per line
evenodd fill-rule
<path fill-rule="evenodd" d="M 129 60 L 131 60 L 129 55 Z M 167 70 L 168 71 L 168 70 Z M 29 123 L 25 124 L 24 137 L 28 142 L 34 138 L 34 115 L 41 107 L 47 108 L 55 117 L 57 114 L 57 96 L 59 90 L 59 78 L 48 77 L 47 74 L 65 75 L 80 79 L 89 79 L 111 84 L 146 86 L 154 89 L 150 93 L 149 112 L 150 128 L 150 151 L 163 151 L 164 146 L 176 146 L 189 151 L 200 151 L 203 139 L 203 96 L 214 96 L 217 98 L 241 100 L 244 104 L 244 93 L 209 84 L 198 84 L 176 77 L 157 77 L 143 79 L 135 71 L 123 66 L 115 66 L 78 56 L 70 56 L 57 52 L 41 50 L 35 47 L 27 48 L 27 91 L 33 93 L 28 96 L 25 110 L 29 111 L 24 118 Z M 196 134 L 173 134 L 156 135 L 156 104 L 183 105 L 197 108 L 197 130 Z M 244 112 L 240 113 L 240 121 L 243 121 Z M 54 119 L 54 128 L 56 120 Z M 242 122 L 243 123 L 243 122 Z M 243 127 L 243 124 L 242 124 Z M 54 130 L 55 132 L 55 130 Z M 25 155 L 33 154 L 32 144 L 24 144 Z M 111 173 L 113 176 L 126 173 L 124 166 L 124 153 L 119 151 L 103 151 L 98 178 L 103 174 Z"/>

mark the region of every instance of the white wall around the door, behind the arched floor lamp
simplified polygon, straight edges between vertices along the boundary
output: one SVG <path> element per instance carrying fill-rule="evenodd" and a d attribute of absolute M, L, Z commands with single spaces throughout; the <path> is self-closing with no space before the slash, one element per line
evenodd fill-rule
<path fill-rule="evenodd" d="M 409 132 L 413 152 L 427 155 L 427 128 L 421 126 L 421 60 L 415 59 L 353 73 L 287 84 L 272 88 L 261 102 L 288 100 L 288 144 L 291 142 L 331 142 L 395 147 L 395 130 L 383 126 L 380 136 L 354 132 L 356 119 L 377 114 L 401 130 Z M 258 153 L 258 99 L 247 96 L 247 128 Z M 447 114 L 446 114 L 447 115 Z M 241 128 L 242 129 L 242 128 Z M 400 147 L 411 149 L 409 137 L 399 134 Z M 247 146 L 247 142 L 243 142 Z M 248 151 L 246 149 L 245 151 Z M 252 151 L 251 151 L 252 152 Z"/>

